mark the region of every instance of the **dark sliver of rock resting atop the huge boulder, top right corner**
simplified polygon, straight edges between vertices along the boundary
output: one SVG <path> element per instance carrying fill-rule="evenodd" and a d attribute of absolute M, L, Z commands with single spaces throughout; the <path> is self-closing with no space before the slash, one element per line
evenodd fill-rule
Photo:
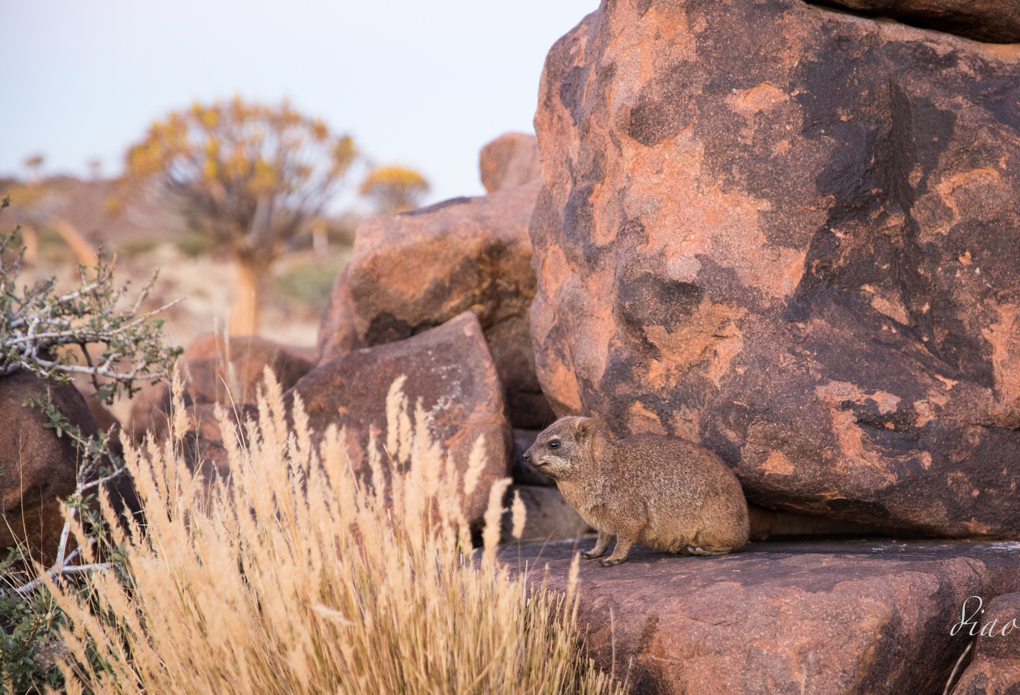
<path fill-rule="evenodd" d="M 892 17 L 976 41 L 1020 42 L 1020 3 L 1014 0 L 823 0 L 820 4 Z"/>

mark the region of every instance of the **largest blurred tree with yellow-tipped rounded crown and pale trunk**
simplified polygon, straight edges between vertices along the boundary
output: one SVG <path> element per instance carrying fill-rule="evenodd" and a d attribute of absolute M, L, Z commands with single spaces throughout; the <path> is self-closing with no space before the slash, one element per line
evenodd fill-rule
<path fill-rule="evenodd" d="M 154 122 L 128 151 L 125 181 L 157 183 L 196 231 L 233 252 L 231 332 L 254 335 L 270 264 L 322 212 L 356 157 L 351 138 L 287 102 L 238 97 Z"/>

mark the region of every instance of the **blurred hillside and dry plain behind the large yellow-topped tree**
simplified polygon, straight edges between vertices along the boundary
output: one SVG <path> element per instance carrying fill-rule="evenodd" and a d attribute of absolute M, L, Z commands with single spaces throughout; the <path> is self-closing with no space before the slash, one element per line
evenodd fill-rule
<path fill-rule="evenodd" d="M 0 231 L 16 226 L 27 247 L 21 278 L 57 276 L 69 286 L 76 263 L 88 261 L 68 239 L 74 232 L 92 253 L 116 254 L 117 277 L 137 289 L 158 269 L 148 306 L 155 308 L 184 297 L 166 315 L 167 331 L 178 344 L 214 326 L 226 327 L 236 295 L 236 267 L 228 251 L 215 249 L 192 229 L 185 216 L 148 192 L 118 200 L 112 179 L 83 180 L 60 175 L 34 182 L 0 179 L 0 198 L 11 207 L 0 215 Z M 261 334 L 297 345 L 312 345 L 319 315 L 337 271 L 350 255 L 354 229 L 363 215 L 342 211 L 324 217 L 323 234 L 311 229 L 296 235 L 272 265 L 262 306 Z"/>

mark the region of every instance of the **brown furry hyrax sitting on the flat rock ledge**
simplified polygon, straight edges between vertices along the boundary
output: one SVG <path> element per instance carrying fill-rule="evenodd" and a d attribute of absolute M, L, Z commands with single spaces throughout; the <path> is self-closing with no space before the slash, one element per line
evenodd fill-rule
<path fill-rule="evenodd" d="M 715 453 L 678 437 L 603 436 L 591 418 L 560 418 L 524 453 L 556 481 L 564 498 L 599 532 L 585 559 L 619 565 L 630 546 L 695 555 L 740 550 L 748 542 L 748 502 Z"/>

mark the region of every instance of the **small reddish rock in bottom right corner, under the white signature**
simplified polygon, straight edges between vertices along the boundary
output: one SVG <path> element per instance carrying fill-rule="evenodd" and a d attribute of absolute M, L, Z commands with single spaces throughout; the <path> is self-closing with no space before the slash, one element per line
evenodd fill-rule
<path fill-rule="evenodd" d="M 960 632 L 976 635 L 974 655 L 953 690 L 955 695 L 1020 693 L 1020 593 L 998 596 L 981 608 L 972 600 L 960 611 Z M 981 612 L 983 610 L 983 612 Z M 965 621 L 966 618 L 966 621 Z M 976 624 L 976 627 L 975 627 Z"/>

